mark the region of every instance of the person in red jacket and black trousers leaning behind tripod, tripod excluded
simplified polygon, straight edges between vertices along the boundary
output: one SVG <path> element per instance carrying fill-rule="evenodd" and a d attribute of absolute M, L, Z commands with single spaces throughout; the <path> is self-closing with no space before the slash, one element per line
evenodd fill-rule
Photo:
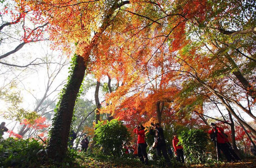
<path fill-rule="evenodd" d="M 220 150 L 223 152 L 225 157 L 227 158 L 228 162 L 231 162 L 233 159 L 233 156 L 230 153 L 230 146 L 228 145 L 227 137 L 224 134 L 224 129 L 221 127 L 218 127 L 215 123 L 211 123 L 212 129 L 208 131 L 208 133 L 215 134 L 217 139 L 217 147 L 220 148 Z M 211 135 L 212 136 L 212 135 Z"/>

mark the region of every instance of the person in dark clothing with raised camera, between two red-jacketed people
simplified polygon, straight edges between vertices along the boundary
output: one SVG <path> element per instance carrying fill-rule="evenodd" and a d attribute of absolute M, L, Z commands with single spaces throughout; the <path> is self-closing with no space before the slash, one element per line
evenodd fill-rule
<path fill-rule="evenodd" d="M 151 123 L 151 125 L 152 127 L 150 129 L 150 134 L 154 135 L 155 143 L 157 143 L 157 147 L 156 147 L 157 156 L 162 157 L 162 153 L 163 153 L 163 157 L 166 161 L 166 164 L 170 166 L 171 161 L 166 150 L 166 142 L 163 135 L 163 128 L 160 126 L 159 123 L 156 123 L 156 124 Z"/>

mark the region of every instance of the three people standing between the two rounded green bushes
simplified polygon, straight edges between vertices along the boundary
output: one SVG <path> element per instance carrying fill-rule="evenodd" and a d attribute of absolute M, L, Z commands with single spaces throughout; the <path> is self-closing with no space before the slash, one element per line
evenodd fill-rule
<path fill-rule="evenodd" d="M 145 127 L 143 125 L 139 125 L 134 129 L 134 133 L 138 135 L 138 157 L 141 162 L 143 162 L 145 165 L 148 165 L 148 154 L 146 151 L 146 141 L 145 141 Z M 168 150 L 166 148 L 166 141 L 163 134 L 163 128 L 159 123 L 151 123 L 151 129 L 150 134 L 154 136 L 154 143 L 153 148 L 156 149 L 156 153 L 158 157 L 164 157 L 166 165 L 171 166 L 171 161 L 168 155 Z M 174 134 L 173 138 L 173 147 L 175 151 L 175 155 L 177 156 L 177 160 L 180 162 L 184 162 L 184 156 L 183 156 L 183 147 L 178 144 L 179 140 L 177 138 L 177 135 Z M 170 153 L 170 152 L 169 152 Z"/>

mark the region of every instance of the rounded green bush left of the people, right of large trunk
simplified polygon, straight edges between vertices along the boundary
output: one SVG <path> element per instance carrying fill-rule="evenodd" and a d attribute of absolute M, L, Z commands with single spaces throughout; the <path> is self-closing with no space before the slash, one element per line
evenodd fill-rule
<path fill-rule="evenodd" d="M 122 154 L 122 145 L 130 141 L 130 133 L 121 121 L 111 120 L 106 124 L 99 122 L 95 126 L 94 140 L 96 145 L 102 146 L 106 154 L 120 157 Z"/>

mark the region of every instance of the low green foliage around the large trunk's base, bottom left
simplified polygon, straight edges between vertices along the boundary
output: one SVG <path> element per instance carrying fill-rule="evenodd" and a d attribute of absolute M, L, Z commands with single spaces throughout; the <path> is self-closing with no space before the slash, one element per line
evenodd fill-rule
<path fill-rule="evenodd" d="M 0 167 L 4 168 L 78 168 L 78 151 L 68 150 L 63 162 L 47 157 L 47 149 L 39 140 L 8 138 L 0 140 Z"/>

